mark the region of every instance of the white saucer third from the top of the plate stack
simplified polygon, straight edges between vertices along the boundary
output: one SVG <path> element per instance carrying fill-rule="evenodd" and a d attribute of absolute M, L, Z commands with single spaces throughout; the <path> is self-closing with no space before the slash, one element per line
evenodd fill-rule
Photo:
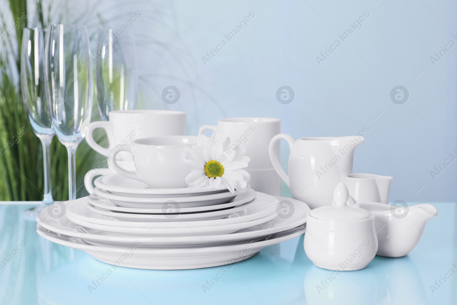
<path fill-rule="evenodd" d="M 222 209 L 232 208 L 234 206 L 246 203 L 251 201 L 256 196 L 255 191 L 250 188 L 245 193 L 239 194 L 236 196 L 232 201 L 229 203 L 222 203 L 222 204 L 215 204 L 215 205 L 207 205 L 202 207 L 193 207 L 193 208 L 185 208 L 180 206 L 180 211 L 182 213 L 198 213 L 198 212 L 207 212 L 207 211 L 216 211 Z M 119 207 L 116 204 L 112 203 L 111 200 L 106 198 L 101 198 L 95 194 L 91 194 L 88 197 L 89 203 L 102 209 L 108 209 L 111 211 L 119 211 L 124 213 L 140 213 L 140 214 L 167 214 L 166 210 L 164 211 L 163 206 L 160 209 L 143 209 L 143 208 L 125 208 Z M 165 205 L 168 207 L 168 205 Z"/>

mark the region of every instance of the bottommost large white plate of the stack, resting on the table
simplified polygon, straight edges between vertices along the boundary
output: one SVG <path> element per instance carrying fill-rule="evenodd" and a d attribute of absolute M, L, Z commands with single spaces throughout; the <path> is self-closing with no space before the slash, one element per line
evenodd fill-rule
<path fill-rule="evenodd" d="M 234 264 L 271 246 L 302 235 L 305 225 L 277 233 L 265 241 L 242 242 L 227 246 L 201 246 L 182 248 L 152 248 L 140 246 L 107 246 L 104 244 L 89 245 L 79 238 L 62 236 L 38 227 L 39 235 L 60 245 L 83 250 L 96 259 L 113 265 L 158 270 L 195 269 Z M 138 245 L 138 246 L 137 246 Z"/>

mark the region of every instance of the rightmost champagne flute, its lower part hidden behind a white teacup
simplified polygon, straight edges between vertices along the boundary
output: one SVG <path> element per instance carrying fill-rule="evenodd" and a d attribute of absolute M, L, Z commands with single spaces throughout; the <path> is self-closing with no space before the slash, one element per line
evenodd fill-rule
<path fill-rule="evenodd" d="M 95 84 L 101 119 L 108 121 L 112 110 L 131 110 L 137 106 L 138 71 L 132 32 L 101 29 L 97 34 Z"/>

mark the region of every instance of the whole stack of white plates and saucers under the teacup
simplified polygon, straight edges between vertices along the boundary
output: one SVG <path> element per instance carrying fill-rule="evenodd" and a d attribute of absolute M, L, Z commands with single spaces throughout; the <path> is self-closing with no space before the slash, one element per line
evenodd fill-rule
<path fill-rule="evenodd" d="M 97 178 L 95 185 L 89 197 L 62 203 L 63 215 L 43 209 L 37 232 L 102 262 L 132 268 L 236 263 L 303 234 L 310 210 L 301 201 L 252 189 L 151 189 L 117 173 Z M 281 214 L 283 200 L 292 214 Z"/>

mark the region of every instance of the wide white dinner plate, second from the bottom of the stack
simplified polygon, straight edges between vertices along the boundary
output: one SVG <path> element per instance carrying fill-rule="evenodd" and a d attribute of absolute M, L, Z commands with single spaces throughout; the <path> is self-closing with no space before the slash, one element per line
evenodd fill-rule
<path fill-rule="evenodd" d="M 279 200 L 289 200 L 293 204 L 294 213 L 290 218 L 276 216 L 274 219 L 255 225 L 232 234 L 225 235 L 202 235 L 202 236 L 128 236 L 122 233 L 112 233 L 90 228 L 81 227 L 71 222 L 66 216 L 61 219 L 39 219 L 38 227 L 44 228 L 67 236 L 77 237 L 86 241 L 96 241 L 114 245 L 134 245 L 136 241 L 143 246 L 185 246 L 185 245 L 214 245 L 225 244 L 243 240 L 257 239 L 277 232 L 290 230 L 306 222 L 306 214 L 311 210 L 302 201 L 275 196 Z"/>

